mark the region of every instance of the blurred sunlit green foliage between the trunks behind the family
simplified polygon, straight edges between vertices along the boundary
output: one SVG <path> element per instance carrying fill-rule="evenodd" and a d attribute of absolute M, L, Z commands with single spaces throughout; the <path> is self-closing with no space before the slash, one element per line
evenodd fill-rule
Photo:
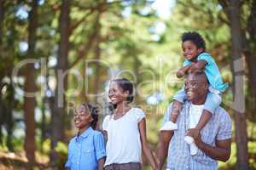
<path fill-rule="evenodd" d="M 60 8 L 61 1 L 50 0 L 42 1 L 43 4 L 38 6 L 38 40 L 36 42 L 37 59 L 48 59 L 47 85 L 55 85 L 55 59 L 58 54 L 58 43 L 60 41 Z M 152 1 L 95 1 L 95 0 L 73 0 L 70 8 L 70 35 L 69 35 L 69 64 L 82 55 L 83 59 L 74 65 L 73 70 L 79 71 L 81 77 L 76 79 L 73 75 L 68 76 L 67 103 L 79 103 L 81 100 L 94 103 L 96 99 L 90 98 L 85 94 L 85 88 L 89 90 L 89 94 L 94 91 L 105 92 L 106 82 L 113 78 L 111 71 L 126 71 L 121 77 L 129 77 L 135 82 L 137 95 L 134 105 L 142 105 L 147 112 L 147 130 L 148 140 L 152 148 L 158 143 L 158 129 L 162 122 L 163 114 L 167 105 L 172 102 L 172 96 L 177 89 L 183 86 L 183 79 L 177 79 L 175 74 L 177 69 L 183 63 L 180 36 L 184 31 L 199 31 L 207 41 L 207 51 L 212 54 L 222 71 L 224 81 L 232 82 L 230 71 L 231 55 L 230 55 L 230 27 L 227 25 L 227 17 L 223 8 L 218 4 L 217 0 L 179 0 L 176 1 L 175 7 L 170 9 L 172 14 L 167 18 L 161 18 L 157 11 L 152 7 Z M 107 2 L 107 3 L 106 3 Z M 253 1 L 246 1 L 241 10 L 242 27 L 247 26 L 247 18 L 250 14 L 250 8 Z M 20 42 L 28 40 L 28 18 L 22 19 L 17 16 L 20 8 L 25 8 L 29 12 L 30 1 L 6 1 L 4 3 L 4 18 L 1 28 L 3 36 L 0 37 L 0 84 L 8 82 L 10 84 L 10 73 L 15 65 L 23 59 L 28 59 L 26 51 L 20 51 Z M 148 12 L 143 12 L 145 9 Z M 128 12 L 127 12 L 128 11 Z M 96 31 L 96 20 L 98 14 L 100 31 L 97 32 L 100 41 L 96 44 L 94 35 Z M 126 14 L 124 14 L 126 13 Z M 158 30 L 161 26 L 160 31 Z M 90 36 L 93 35 L 93 38 Z M 89 43 L 88 43 L 89 42 Z M 252 42 L 253 43 L 253 42 Z M 86 53 L 82 53 L 86 44 L 91 44 Z M 254 44 L 254 43 L 253 43 Z M 96 47 L 100 53 L 96 54 Z M 86 59 L 101 59 L 106 63 L 107 68 L 97 68 L 96 64 L 86 65 Z M 43 110 L 47 113 L 46 126 L 44 133 L 49 134 L 48 125 L 50 124 L 50 104 L 51 100 L 46 94 L 46 90 L 54 88 L 45 87 L 46 84 L 39 80 L 46 80 L 45 75 L 41 75 L 41 66 L 35 69 L 37 75 L 37 106 L 36 110 Z M 88 67 L 86 67 L 88 66 Z M 90 71 L 90 69 L 92 71 Z M 19 72 L 19 82 L 15 85 L 24 88 L 24 69 Z M 96 77 L 96 72 L 99 72 Z M 132 74 L 131 74 L 132 73 Z M 133 77 L 133 74 L 135 77 Z M 43 77 L 43 78 L 42 78 Z M 42 78 L 42 79 L 41 79 Z M 86 84 L 84 79 L 86 79 Z M 96 89 L 96 81 L 99 88 Z M 247 80 L 248 82 L 250 80 Z M 72 95 L 77 90 L 79 82 L 83 82 L 83 89 L 79 95 Z M 47 88 L 47 89 L 46 89 Z M 51 93 L 52 93 L 51 91 Z M 49 91 L 48 91 L 49 92 Z M 160 92 L 165 98 L 160 101 L 159 105 L 148 105 L 146 100 L 148 96 Z M 15 95 L 7 95 L 14 94 Z M 249 91 L 246 93 L 249 96 Z M 10 97 L 9 97 L 10 96 Z M 11 98 L 13 97 L 13 98 Z M 51 96 L 52 97 L 52 96 Z M 223 103 L 228 104 L 232 101 L 231 89 L 224 94 Z M 105 98 L 104 98 L 105 99 Z M 0 112 L 0 119 L 3 120 L 3 127 L 14 125 L 17 128 L 17 122 L 23 122 L 25 117 L 22 111 L 24 105 L 23 96 L 17 94 L 17 89 L 8 88 L 7 93 L 1 94 L 1 104 L 6 106 L 3 111 L 8 111 L 12 101 L 15 100 L 13 109 L 16 112 L 13 120 L 7 120 L 7 112 Z M 101 99 L 99 99 L 101 100 Z M 103 100 L 103 99 L 102 99 Z M 225 105 L 224 105 L 225 106 Z M 225 106 L 226 107 L 226 106 Z M 226 107 L 227 108 L 227 107 Z M 227 108 L 230 111 L 229 108 Z M 2 111 L 2 110 L 1 110 Z M 13 112 L 14 112 L 13 111 Z M 39 115 L 39 116 L 38 116 Z M 40 148 L 41 142 L 41 123 L 42 114 L 36 114 L 37 120 L 37 146 Z M 253 116 L 253 115 L 252 115 Z M 39 117 L 39 118 L 38 118 Z M 255 117 L 249 117 L 254 120 Z M 66 133 L 71 131 L 72 118 L 66 116 Z M 101 120 L 99 124 L 101 124 Z M 1 122 L 2 123 L 2 122 Z M 255 122 L 247 123 L 247 131 L 250 138 L 255 138 Z M 53 125 L 54 126 L 54 125 Z M 23 128 L 23 127 L 22 127 Z M 16 138 L 12 135 L 11 144 L 14 145 L 15 151 L 24 150 L 24 137 Z M 0 150 L 8 150 L 7 136 L 3 134 L 3 145 Z M 46 139 L 43 143 L 42 150 L 49 155 L 50 141 Z M 249 143 L 250 163 L 255 168 L 255 143 Z M 59 166 L 67 160 L 67 145 L 59 142 L 55 147 L 56 152 L 60 156 Z M 220 163 L 220 168 L 234 168 L 236 163 L 236 145 L 232 144 L 232 156 L 227 163 Z"/>

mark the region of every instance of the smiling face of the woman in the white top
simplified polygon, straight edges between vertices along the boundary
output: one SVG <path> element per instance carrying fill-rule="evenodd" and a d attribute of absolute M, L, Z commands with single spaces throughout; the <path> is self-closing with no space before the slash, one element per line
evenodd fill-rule
<path fill-rule="evenodd" d="M 118 82 L 110 82 L 108 97 L 113 105 L 118 105 L 125 101 L 128 95 L 128 91 L 124 92 L 124 90 L 119 87 Z"/>

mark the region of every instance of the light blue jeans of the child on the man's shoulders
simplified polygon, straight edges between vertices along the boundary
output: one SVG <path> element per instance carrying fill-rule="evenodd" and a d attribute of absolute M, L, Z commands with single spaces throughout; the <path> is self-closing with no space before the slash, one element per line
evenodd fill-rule
<path fill-rule="evenodd" d="M 221 96 L 221 92 L 219 92 L 215 88 L 209 87 L 204 109 L 210 111 L 213 115 L 215 110 L 221 104 Z M 173 99 L 183 103 L 184 100 L 186 99 L 184 88 L 178 90 L 177 93 L 174 95 Z"/>

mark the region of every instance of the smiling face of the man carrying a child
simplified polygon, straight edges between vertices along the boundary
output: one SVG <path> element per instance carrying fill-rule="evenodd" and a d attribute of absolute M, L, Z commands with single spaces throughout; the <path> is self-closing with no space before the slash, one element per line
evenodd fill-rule
<path fill-rule="evenodd" d="M 207 95 L 207 77 L 190 74 L 185 81 L 185 93 L 190 101 L 204 99 Z"/>

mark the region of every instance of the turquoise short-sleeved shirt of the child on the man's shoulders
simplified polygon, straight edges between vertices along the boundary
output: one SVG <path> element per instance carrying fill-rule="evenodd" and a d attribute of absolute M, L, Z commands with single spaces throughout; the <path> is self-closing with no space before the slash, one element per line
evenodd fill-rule
<path fill-rule="evenodd" d="M 214 59 L 210 54 L 202 53 L 199 54 L 197 60 L 206 60 L 207 65 L 205 65 L 205 73 L 207 75 L 207 79 L 210 82 L 212 88 L 217 89 L 219 92 L 224 92 L 228 88 L 228 83 L 223 82 L 221 78 L 221 74 L 218 71 L 218 65 L 215 63 Z M 190 65 L 191 61 L 185 59 L 183 62 L 183 66 Z"/>

